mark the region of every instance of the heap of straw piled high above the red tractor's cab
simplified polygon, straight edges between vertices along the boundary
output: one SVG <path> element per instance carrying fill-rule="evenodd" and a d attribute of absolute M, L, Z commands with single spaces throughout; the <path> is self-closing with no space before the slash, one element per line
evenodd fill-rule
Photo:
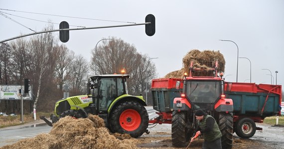
<path fill-rule="evenodd" d="M 193 73 L 193 76 L 213 76 L 213 72 L 209 71 L 210 68 L 215 68 L 215 62 L 218 61 L 218 72 L 224 72 L 225 59 L 219 51 L 205 50 L 200 52 L 199 50 L 189 51 L 182 59 L 183 68 L 179 71 L 174 71 L 166 74 L 165 77 L 182 78 L 186 72 L 189 74 L 190 63 L 193 61 L 194 68 L 202 68 L 204 71 Z"/>

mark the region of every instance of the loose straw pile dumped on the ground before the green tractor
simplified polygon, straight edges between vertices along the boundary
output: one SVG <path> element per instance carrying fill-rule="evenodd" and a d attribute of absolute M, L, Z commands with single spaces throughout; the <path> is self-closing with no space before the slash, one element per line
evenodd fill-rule
<path fill-rule="evenodd" d="M 104 120 L 96 115 L 89 115 L 86 119 L 68 116 L 55 123 L 48 134 L 20 140 L 0 149 L 138 149 L 136 139 L 126 134 L 111 135 L 104 126 Z"/>

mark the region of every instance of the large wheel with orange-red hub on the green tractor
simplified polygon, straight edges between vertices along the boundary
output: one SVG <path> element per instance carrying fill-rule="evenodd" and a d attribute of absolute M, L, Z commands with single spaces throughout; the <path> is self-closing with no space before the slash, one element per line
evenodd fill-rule
<path fill-rule="evenodd" d="M 148 123 L 147 110 L 137 101 L 119 103 L 110 116 L 110 128 L 113 133 L 130 134 L 133 138 L 147 132 Z"/>

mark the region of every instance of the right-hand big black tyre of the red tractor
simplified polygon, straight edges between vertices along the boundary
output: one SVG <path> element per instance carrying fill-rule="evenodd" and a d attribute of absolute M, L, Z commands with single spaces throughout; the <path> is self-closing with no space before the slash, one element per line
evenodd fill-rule
<path fill-rule="evenodd" d="M 222 133 L 222 149 L 232 149 L 233 146 L 233 114 L 219 114 L 219 129 Z"/>

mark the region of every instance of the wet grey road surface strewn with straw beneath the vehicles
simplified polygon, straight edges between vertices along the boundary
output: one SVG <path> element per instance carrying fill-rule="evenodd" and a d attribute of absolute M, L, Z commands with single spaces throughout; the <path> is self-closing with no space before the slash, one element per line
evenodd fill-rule
<path fill-rule="evenodd" d="M 149 119 L 156 116 L 152 107 L 146 107 Z M 250 139 L 240 139 L 234 134 L 233 149 L 284 149 L 284 127 L 273 127 L 266 124 L 257 124 L 263 131 L 257 131 Z M 37 120 L 21 126 L 13 126 L 0 129 L 0 147 L 14 144 L 25 138 L 32 138 L 41 133 L 49 133 L 52 127 L 44 121 Z M 149 125 L 150 134 L 143 134 L 138 138 L 142 143 L 138 145 L 142 149 L 178 149 L 171 145 L 171 125 Z M 190 149 L 200 149 L 202 140 L 196 141 Z"/>

